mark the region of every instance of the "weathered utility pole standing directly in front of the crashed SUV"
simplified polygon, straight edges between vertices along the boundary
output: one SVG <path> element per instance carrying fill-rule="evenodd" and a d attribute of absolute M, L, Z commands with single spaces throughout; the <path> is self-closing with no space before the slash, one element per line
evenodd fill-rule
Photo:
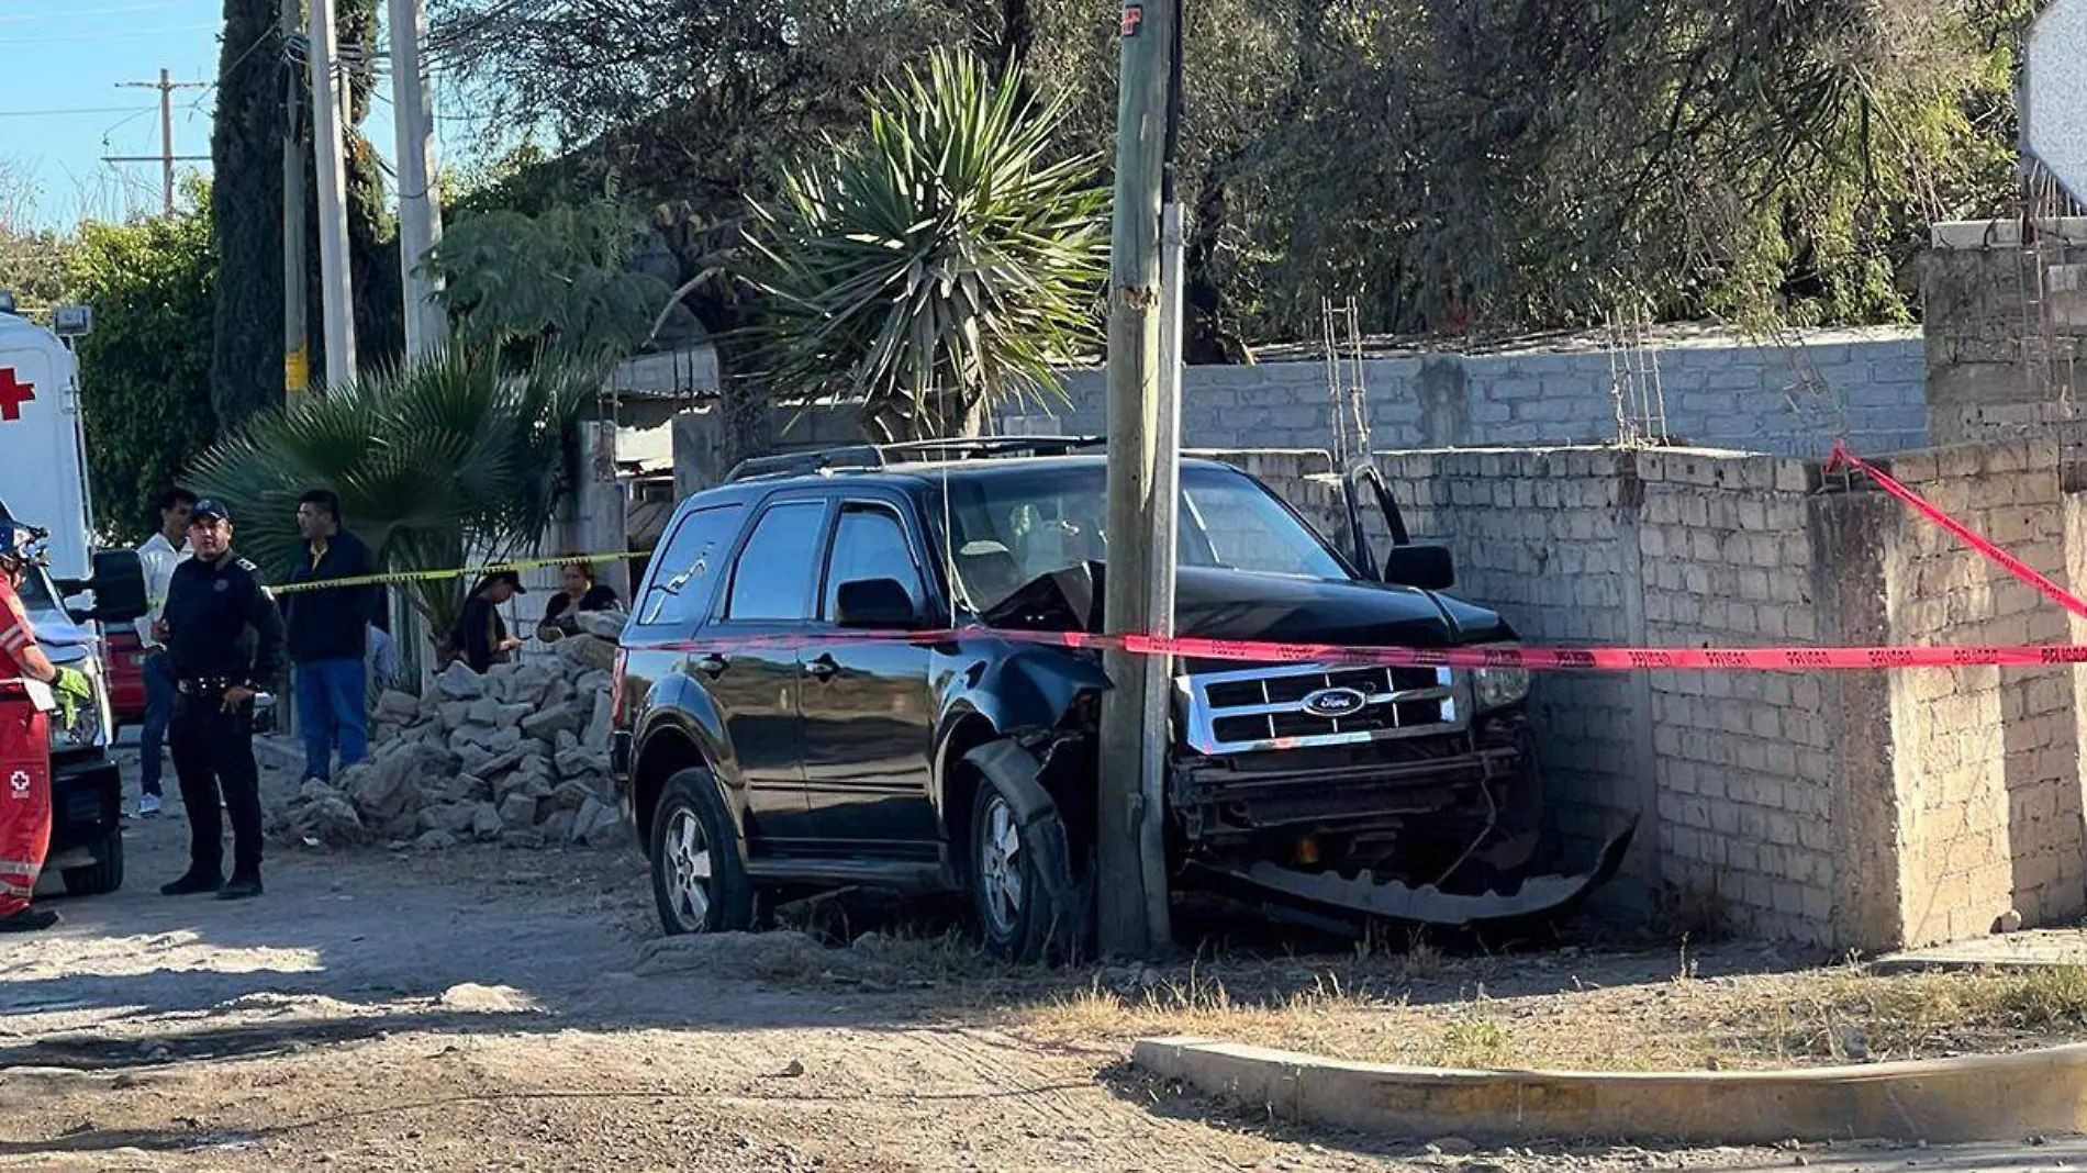
<path fill-rule="evenodd" d="M 1108 551 L 1104 616 L 1110 635 L 1156 630 L 1160 591 L 1173 593 L 1173 543 L 1154 549 L 1160 480 L 1160 186 L 1167 163 L 1169 67 L 1177 0 L 1123 6 L 1121 88 L 1117 102 L 1117 198 L 1108 276 Z M 1171 478 L 1171 470 L 1167 474 Z M 1171 524 L 1167 526 L 1171 530 Z M 1158 578 L 1167 582 L 1160 584 Z M 1165 664 L 1110 651 L 1102 697 L 1102 779 L 1098 812 L 1100 945 L 1104 954 L 1150 956 L 1171 943 L 1167 923 L 1165 810 L 1146 793 L 1150 741 L 1146 705 L 1152 674 Z M 1154 891 L 1158 881 L 1158 891 Z"/>

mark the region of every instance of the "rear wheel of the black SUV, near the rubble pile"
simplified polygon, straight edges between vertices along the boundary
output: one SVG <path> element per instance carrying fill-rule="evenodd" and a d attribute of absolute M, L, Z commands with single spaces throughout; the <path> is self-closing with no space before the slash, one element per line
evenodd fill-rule
<path fill-rule="evenodd" d="M 707 770 L 682 770 L 666 781 L 647 835 L 653 902 L 670 937 L 753 927 L 753 881 Z"/>

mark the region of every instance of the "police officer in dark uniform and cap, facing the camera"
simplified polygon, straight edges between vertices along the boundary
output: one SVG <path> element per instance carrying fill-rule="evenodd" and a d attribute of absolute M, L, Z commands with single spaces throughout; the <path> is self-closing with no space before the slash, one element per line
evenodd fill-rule
<path fill-rule="evenodd" d="M 188 545 L 194 555 L 175 568 L 163 618 L 175 680 L 171 741 L 188 808 L 188 872 L 159 891 L 248 900 L 261 895 L 255 695 L 282 670 L 282 612 L 255 564 L 232 553 L 232 516 L 223 505 L 198 501 L 190 509 Z M 219 793 L 232 814 L 230 883 Z"/>

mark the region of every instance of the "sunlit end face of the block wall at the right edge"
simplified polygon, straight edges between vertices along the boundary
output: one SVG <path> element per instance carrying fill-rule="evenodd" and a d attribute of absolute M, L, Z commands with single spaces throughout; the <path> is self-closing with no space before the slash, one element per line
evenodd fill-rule
<path fill-rule="evenodd" d="M 2031 568 L 2066 580 L 2068 501 L 2054 442 L 1941 449 L 1899 457 L 1893 472 Z M 2072 639 L 2066 612 L 1939 528 L 1901 516 L 1882 541 L 1893 641 Z M 2072 680 L 2072 668 L 1893 674 L 1893 764 L 1905 843 L 1901 916 L 1910 939 L 1987 933 L 2008 908 L 2031 925 L 2087 912 Z"/>

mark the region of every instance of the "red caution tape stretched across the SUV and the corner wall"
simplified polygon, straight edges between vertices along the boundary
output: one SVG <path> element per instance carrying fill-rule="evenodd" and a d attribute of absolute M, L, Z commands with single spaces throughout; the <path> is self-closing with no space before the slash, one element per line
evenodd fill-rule
<path fill-rule="evenodd" d="M 2004 566 L 2010 574 L 2035 586 L 2043 597 L 2087 618 L 2087 601 L 1999 549 L 1970 526 L 1943 513 L 1912 488 L 1899 484 L 1876 465 L 1834 445 L 1828 472 L 1855 470 L 1885 493 L 1897 497 L 1922 518 L 1949 530 L 1968 547 Z M 849 643 L 935 645 L 1000 639 L 1046 647 L 1077 647 L 1092 651 L 1129 651 L 1133 655 L 1179 655 L 1188 660 L 1240 660 L 1254 664 L 1336 664 L 1371 668 L 1524 668 L 1544 672 L 1649 672 L 1649 670 L 1751 670 L 1751 672 L 1816 672 L 1816 670 L 1887 670 L 1887 668 L 1974 668 L 2014 666 L 2045 668 L 2087 664 L 2081 645 L 2008 645 L 2008 647 L 1350 647 L 1336 643 L 1269 643 L 1248 639 L 1198 639 L 1158 635 L 1092 635 L 1050 630 L 1004 630 L 987 626 L 945 630 L 820 630 L 768 637 L 697 639 L 632 645 L 655 651 L 730 653 L 747 649 L 835 647 Z"/>

